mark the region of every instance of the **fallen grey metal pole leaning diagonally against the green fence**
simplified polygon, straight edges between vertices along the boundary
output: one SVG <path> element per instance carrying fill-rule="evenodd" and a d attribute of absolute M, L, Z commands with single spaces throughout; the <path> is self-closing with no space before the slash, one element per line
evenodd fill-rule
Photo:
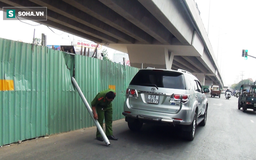
<path fill-rule="evenodd" d="M 109 142 L 104 130 L 101 128 L 100 123 L 98 122 L 98 120 L 94 119 L 93 113 L 92 113 L 92 108 L 90 108 L 89 103 L 87 102 L 86 98 L 84 97 L 84 94 L 83 94 L 82 90 L 80 89 L 80 87 L 78 86 L 78 84 L 76 82 L 76 79 L 74 77 L 72 77 L 72 82 L 73 82 L 74 86 L 76 87 L 80 97 L 82 98 L 82 100 L 84 102 L 84 105 L 86 106 L 90 116 L 92 117 L 93 122 L 96 124 L 98 130 L 100 131 L 100 134 L 102 135 L 102 138 L 104 139 L 104 142 L 106 143 L 107 146 L 109 146 L 110 142 Z"/>

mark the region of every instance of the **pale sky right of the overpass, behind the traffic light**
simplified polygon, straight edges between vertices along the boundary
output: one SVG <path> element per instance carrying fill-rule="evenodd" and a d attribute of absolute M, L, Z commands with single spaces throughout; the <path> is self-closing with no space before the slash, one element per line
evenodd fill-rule
<path fill-rule="evenodd" d="M 256 57 L 255 0 L 195 0 L 225 86 L 256 80 L 256 58 L 242 57 L 242 50 Z M 209 5 L 210 4 L 210 5 Z M 210 8 L 210 12 L 209 12 Z M 208 25 L 209 24 L 209 25 Z M 208 28 L 209 27 L 209 28 Z M 243 75 L 243 76 L 242 76 Z"/>

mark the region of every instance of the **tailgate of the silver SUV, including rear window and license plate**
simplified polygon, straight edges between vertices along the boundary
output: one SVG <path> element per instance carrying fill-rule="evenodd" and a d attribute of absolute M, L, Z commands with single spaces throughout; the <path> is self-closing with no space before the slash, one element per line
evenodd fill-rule
<path fill-rule="evenodd" d="M 173 114 L 180 110 L 181 103 L 171 103 L 170 96 L 186 92 L 184 75 L 166 70 L 140 70 L 128 88 L 138 93 L 137 98 L 129 97 L 132 108 Z"/>

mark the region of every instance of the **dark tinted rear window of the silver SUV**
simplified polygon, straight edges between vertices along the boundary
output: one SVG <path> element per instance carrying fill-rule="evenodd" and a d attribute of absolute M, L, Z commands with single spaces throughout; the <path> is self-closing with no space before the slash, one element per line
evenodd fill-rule
<path fill-rule="evenodd" d="M 185 89 L 184 75 L 163 70 L 140 70 L 130 85 L 157 86 L 161 88 Z"/>

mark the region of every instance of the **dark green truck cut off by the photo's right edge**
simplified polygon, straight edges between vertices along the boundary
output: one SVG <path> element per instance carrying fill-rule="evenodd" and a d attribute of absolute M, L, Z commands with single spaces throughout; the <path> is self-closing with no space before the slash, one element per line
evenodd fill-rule
<path fill-rule="evenodd" d="M 238 97 L 238 110 L 240 108 L 242 108 L 243 112 L 247 109 L 256 111 L 256 85 L 241 85 Z"/>

